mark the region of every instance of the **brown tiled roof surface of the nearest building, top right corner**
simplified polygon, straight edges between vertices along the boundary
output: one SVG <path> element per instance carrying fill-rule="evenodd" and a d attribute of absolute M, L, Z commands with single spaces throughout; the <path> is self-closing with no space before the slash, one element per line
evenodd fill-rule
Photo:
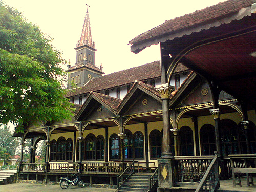
<path fill-rule="evenodd" d="M 148 39 L 160 38 L 165 35 L 185 30 L 192 26 L 211 22 L 212 20 L 223 17 L 223 15 L 235 13 L 242 8 L 252 5 L 253 3 L 255 3 L 255 0 L 228 0 L 194 13 L 168 20 L 147 32 L 138 35 L 129 43 L 133 45 L 139 44 L 139 42 L 145 42 Z"/>

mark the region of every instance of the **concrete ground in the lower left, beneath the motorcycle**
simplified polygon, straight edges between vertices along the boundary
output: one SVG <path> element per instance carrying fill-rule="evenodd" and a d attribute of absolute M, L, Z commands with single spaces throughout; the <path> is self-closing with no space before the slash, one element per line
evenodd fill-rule
<path fill-rule="evenodd" d="M 94 188 L 94 187 L 68 187 L 67 189 L 61 189 L 59 185 L 45 185 L 45 184 L 30 184 L 30 183 L 14 183 L 7 185 L 0 185 L 0 192 L 114 192 L 116 189 Z"/>

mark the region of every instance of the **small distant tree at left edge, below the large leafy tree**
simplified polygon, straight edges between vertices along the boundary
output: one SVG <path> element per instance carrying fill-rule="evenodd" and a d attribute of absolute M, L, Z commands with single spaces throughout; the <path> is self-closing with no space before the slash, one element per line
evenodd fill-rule
<path fill-rule="evenodd" d="M 12 137 L 12 133 L 7 125 L 0 128 L 0 147 L 6 149 L 6 153 L 14 155 L 19 143 L 16 137 Z"/>

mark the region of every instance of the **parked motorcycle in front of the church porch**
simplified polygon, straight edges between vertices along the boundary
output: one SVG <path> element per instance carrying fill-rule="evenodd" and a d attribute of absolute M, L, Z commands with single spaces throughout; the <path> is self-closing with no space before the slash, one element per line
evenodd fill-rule
<path fill-rule="evenodd" d="M 72 187 L 72 186 L 79 186 L 81 188 L 84 187 L 84 183 L 83 181 L 81 180 L 80 176 L 79 176 L 79 169 L 78 169 L 78 172 L 75 173 L 74 175 L 71 176 L 72 177 L 75 177 L 75 179 L 72 181 L 70 180 L 68 177 L 60 177 L 60 181 L 59 181 L 59 185 L 62 189 L 66 189 L 68 187 Z"/>

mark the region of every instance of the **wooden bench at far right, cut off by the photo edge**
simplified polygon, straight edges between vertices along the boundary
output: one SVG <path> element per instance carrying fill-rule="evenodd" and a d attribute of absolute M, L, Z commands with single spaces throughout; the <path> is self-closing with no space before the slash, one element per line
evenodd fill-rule
<path fill-rule="evenodd" d="M 255 162 L 256 154 L 238 154 L 238 155 L 229 155 L 232 168 L 232 179 L 233 186 L 241 184 L 240 174 L 246 174 L 247 185 L 254 185 L 252 174 L 256 174 Z M 239 167 L 238 167 L 239 166 Z M 236 174 L 238 176 L 238 184 L 236 184 Z"/>

